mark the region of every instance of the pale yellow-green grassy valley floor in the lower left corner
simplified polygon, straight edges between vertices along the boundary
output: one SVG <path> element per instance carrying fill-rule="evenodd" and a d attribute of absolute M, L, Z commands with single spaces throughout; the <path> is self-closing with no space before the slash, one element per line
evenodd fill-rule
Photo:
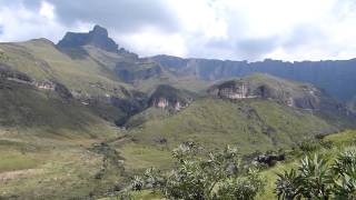
<path fill-rule="evenodd" d="M 10 141 L 1 139 L 0 144 L 0 199 L 85 198 L 123 183 L 125 177 L 112 167 L 96 179 L 103 156 L 85 146 L 59 140 Z"/>

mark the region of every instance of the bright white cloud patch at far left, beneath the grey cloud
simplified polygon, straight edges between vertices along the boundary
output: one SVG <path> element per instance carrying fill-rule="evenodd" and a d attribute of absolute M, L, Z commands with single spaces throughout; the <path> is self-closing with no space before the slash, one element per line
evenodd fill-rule
<path fill-rule="evenodd" d="M 0 41 L 24 41 L 36 38 L 47 38 L 57 42 L 68 30 L 86 31 L 91 23 L 79 22 L 71 27 L 59 23 L 56 19 L 55 6 L 41 2 L 39 10 L 29 9 L 19 3 L 16 7 L 0 6 Z"/>

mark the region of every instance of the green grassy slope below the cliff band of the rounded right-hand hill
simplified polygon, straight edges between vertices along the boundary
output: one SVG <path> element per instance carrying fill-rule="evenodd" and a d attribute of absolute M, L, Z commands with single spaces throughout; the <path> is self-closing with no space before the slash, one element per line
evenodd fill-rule
<path fill-rule="evenodd" d="M 169 147 L 176 147 L 196 140 L 208 148 L 236 144 L 246 153 L 287 147 L 328 128 L 317 117 L 273 101 L 200 99 L 178 114 L 152 119 L 131 132 L 142 143 L 158 146 L 154 140 L 166 138 Z"/>

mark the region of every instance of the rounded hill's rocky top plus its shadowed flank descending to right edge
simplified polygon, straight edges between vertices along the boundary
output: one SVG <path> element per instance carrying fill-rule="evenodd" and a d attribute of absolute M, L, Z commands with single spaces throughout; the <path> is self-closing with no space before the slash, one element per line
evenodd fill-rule
<path fill-rule="evenodd" d="M 324 90 L 267 73 L 253 73 L 215 84 L 208 93 L 221 99 L 265 99 L 318 114 L 337 127 L 352 126 L 356 116 Z"/>

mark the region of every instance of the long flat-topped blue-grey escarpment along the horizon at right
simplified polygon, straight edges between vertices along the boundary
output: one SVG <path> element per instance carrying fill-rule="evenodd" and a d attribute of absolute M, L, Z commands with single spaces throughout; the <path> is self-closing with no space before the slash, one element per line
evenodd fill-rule
<path fill-rule="evenodd" d="M 264 60 L 258 62 L 182 59 L 170 56 L 152 57 L 174 74 L 195 76 L 198 80 L 216 81 L 265 72 L 277 77 L 313 83 L 340 101 L 355 97 L 356 59 L 335 61 L 285 62 Z"/>

